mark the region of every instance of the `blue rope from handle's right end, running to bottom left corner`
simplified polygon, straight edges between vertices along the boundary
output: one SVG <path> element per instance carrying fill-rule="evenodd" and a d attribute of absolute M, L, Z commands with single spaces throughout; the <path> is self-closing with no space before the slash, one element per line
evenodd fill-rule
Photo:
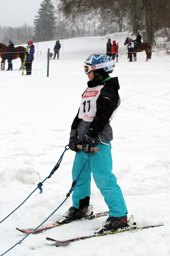
<path fill-rule="evenodd" d="M 75 183 L 73 182 L 74 184 L 72 184 L 69 193 L 67 194 L 67 196 L 66 196 L 66 198 L 64 199 L 64 201 L 57 207 L 57 209 L 55 209 L 55 211 L 52 212 L 52 213 L 48 216 L 48 218 L 47 218 L 46 220 L 44 220 L 38 227 L 36 227 L 33 231 L 31 231 L 29 234 L 27 234 L 24 238 L 22 238 L 20 241 L 18 241 L 18 243 L 14 244 L 10 249 L 8 249 L 6 252 L 4 252 L 3 254 L 1 254 L 0 256 L 2 256 L 2 255 L 4 255 L 5 253 L 9 252 L 9 251 L 10 251 L 11 249 L 13 249 L 17 244 L 21 244 L 22 241 L 23 241 L 24 239 L 26 239 L 27 236 L 29 236 L 30 234 L 32 234 L 37 228 L 39 228 L 42 224 L 44 224 L 44 222 L 46 222 L 46 221 L 47 221 L 64 203 L 65 203 L 65 201 L 67 200 L 67 198 L 70 196 L 70 194 L 73 192 L 74 188 L 76 187 L 76 185 L 77 185 L 77 183 L 78 183 L 78 180 L 79 180 L 79 178 L 80 178 L 80 175 L 81 175 L 81 173 L 83 172 L 83 169 L 85 168 L 85 165 L 87 164 L 87 162 L 88 162 L 89 158 L 92 156 L 92 154 L 93 154 L 93 153 L 90 153 L 90 155 L 88 156 L 88 158 L 87 158 L 85 164 L 83 165 L 82 169 L 80 170 L 80 172 L 79 172 L 79 174 L 78 174 L 78 176 L 77 176 L 77 178 L 76 178 L 76 180 L 75 180 Z"/>

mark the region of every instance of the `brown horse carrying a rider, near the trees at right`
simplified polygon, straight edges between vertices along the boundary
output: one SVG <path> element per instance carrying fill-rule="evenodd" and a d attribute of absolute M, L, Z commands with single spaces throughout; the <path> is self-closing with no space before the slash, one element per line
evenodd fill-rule
<path fill-rule="evenodd" d="M 129 40 L 130 38 L 127 37 L 125 42 L 124 42 L 124 45 L 128 44 L 129 43 Z M 132 40 L 132 42 L 134 42 Z M 137 52 L 142 52 L 142 51 L 145 51 L 146 52 L 146 60 L 145 61 L 148 61 L 149 59 L 151 60 L 151 55 L 152 55 L 152 46 L 151 44 L 149 43 L 142 43 L 141 46 L 139 48 L 134 48 L 134 52 L 133 52 L 133 61 L 136 61 L 137 60 Z"/>

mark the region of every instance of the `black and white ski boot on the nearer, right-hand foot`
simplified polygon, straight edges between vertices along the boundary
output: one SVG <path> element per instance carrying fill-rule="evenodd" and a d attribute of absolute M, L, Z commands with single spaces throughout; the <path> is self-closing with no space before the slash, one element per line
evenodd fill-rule
<path fill-rule="evenodd" d="M 131 226 L 134 221 L 134 215 L 131 215 L 129 220 L 127 220 L 127 215 L 122 217 L 108 217 L 107 220 L 103 223 L 103 227 L 96 228 L 95 233 L 104 233 L 109 231 L 116 230 L 118 228 L 127 228 Z"/>

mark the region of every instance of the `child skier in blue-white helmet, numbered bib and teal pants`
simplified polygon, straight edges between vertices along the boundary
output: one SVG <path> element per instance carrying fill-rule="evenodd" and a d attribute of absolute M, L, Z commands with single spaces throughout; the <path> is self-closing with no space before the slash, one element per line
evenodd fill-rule
<path fill-rule="evenodd" d="M 112 173 L 110 141 L 113 133 L 109 123 L 120 105 L 118 78 L 108 75 L 113 72 L 114 66 L 114 60 L 103 53 L 94 53 L 85 59 L 85 74 L 89 81 L 71 125 L 69 140 L 70 149 L 76 152 L 72 180 L 77 178 L 85 164 L 90 147 L 100 148 L 100 151 L 90 157 L 79 177 L 72 194 L 73 206 L 57 220 L 58 223 L 66 223 L 92 213 L 92 206 L 89 207 L 91 211 L 88 208 L 92 172 L 96 186 L 109 207 L 109 217 L 98 233 L 127 226 L 128 211 L 121 188 Z M 82 150 L 77 148 L 78 144 L 82 144 Z"/>

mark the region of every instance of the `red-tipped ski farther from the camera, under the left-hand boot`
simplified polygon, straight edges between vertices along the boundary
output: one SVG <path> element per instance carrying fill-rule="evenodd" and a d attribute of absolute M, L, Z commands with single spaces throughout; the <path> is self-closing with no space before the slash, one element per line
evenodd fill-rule
<path fill-rule="evenodd" d="M 78 221 L 78 220 L 92 220 L 92 219 L 96 219 L 96 218 L 99 218 L 99 217 L 102 217 L 102 216 L 107 216 L 108 215 L 108 212 L 100 212 L 100 213 L 96 213 L 96 214 L 92 214 L 92 215 L 89 215 L 89 216 L 85 216 L 85 217 L 82 217 L 81 219 L 76 219 L 76 220 L 71 220 L 69 222 L 66 222 L 66 223 L 62 223 L 62 224 L 59 224 L 57 222 L 54 222 L 54 223 L 50 223 L 50 224 L 45 224 L 45 225 L 42 225 L 40 226 L 39 228 L 37 228 L 32 234 L 34 233 L 37 233 L 37 232 L 41 232 L 43 230 L 46 230 L 46 229 L 50 229 L 50 228 L 55 228 L 55 227 L 60 227 L 60 226 L 63 226 L 65 224 L 68 224 L 68 223 L 71 223 L 73 221 Z M 26 228 L 26 229 L 21 229 L 21 228 L 16 228 L 17 230 L 21 231 L 22 233 L 25 233 L 25 234 L 29 234 L 30 232 L 32 232 L 34 228 Z"/>

